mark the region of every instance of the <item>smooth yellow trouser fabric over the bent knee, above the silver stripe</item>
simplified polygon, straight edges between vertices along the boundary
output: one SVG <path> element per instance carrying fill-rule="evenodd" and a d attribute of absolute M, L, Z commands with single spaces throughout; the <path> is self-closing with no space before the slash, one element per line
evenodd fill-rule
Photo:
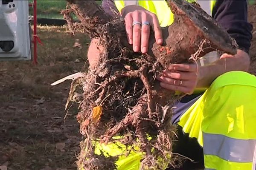
<path fill-rule="evenodd" d="M 204 101 L 203 132 L 236 139 L 256 139 L 255 76 L 230 72 L 219 77 L 210 90 L 214 93 L 209 93 Z M 217 102 L 218 105 L 214 104 Z"/>

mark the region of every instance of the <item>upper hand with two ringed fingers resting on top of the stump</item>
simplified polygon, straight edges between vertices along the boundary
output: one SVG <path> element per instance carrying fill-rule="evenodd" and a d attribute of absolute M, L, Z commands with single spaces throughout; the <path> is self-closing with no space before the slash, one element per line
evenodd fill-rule
<path fill-rule="evenodd" d="M 154 31 L 157 44 L 163 43 L 162 30 L 157 16 L 141 6 L 131 5 L 122 9 L 122 17 L 125 18 L 125 29 L 129 44 L 133 45 L 134 52 L 148 51 L 150 26 Z M 140 42 L 141 40 L 141 42 Z"/>

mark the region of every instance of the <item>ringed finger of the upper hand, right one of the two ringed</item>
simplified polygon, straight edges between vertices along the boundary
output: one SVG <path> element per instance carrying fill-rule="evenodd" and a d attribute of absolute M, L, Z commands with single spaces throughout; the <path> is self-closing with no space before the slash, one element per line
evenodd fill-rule
<path fill-rule="evenodd" d="M 148 14 L 145 12 L 141 13 L 142 24 L 148 22 Z M 148 51 L 148 40 L 150 35 L 150 27 L 147 24 L 141 26 L 141 52 L 146 53 Z"/>

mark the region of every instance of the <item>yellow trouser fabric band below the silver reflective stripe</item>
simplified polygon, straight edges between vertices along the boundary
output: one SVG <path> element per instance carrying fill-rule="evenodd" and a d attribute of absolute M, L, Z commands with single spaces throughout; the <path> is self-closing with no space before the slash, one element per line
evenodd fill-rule
<path fill-rule="evenodd" d="M 204 155 L 205 168 L 213 170 L 251 170 L 252 162 L 231 162 L 213 155 Z"/>

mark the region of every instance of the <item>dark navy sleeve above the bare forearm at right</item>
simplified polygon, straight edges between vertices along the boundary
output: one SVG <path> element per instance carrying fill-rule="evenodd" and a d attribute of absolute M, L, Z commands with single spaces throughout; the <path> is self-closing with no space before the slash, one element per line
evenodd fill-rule
<path fill-rule="evenodd" d="M 246 0 L 217 0 L 212 17 L 249 53 L 253 26 L 247 21 Z"/>

